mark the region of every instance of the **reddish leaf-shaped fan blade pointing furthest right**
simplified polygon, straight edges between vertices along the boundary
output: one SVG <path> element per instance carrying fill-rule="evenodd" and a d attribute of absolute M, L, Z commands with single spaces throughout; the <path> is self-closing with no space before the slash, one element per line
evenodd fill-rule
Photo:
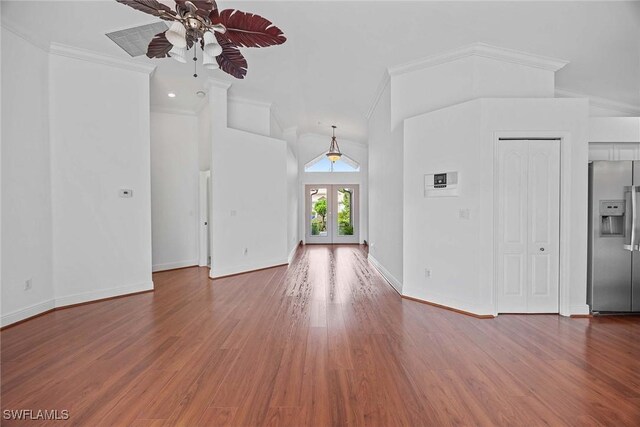
<path fill-rule="evenodd" d="M 224 25 L 227 28 L 227 39 L 239 47 L 267 47 L 287 41 L 280 28 L 253 13 L 225 9 L 213 22 Z"/>

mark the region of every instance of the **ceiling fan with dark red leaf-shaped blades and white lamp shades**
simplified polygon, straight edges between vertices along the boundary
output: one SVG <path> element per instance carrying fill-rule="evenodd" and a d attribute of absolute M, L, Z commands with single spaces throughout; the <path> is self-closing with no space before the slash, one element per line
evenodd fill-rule
<path fill-rule="evenodd" d="M 287 40 L 271 21 L 236 9 L 219 11 L 215 0 L 175 0 L 175 11 L 156 0 L 116 1 L 172 22 L 149 43 L 149 58 L 186 62 L 187 51 L 194 48 L 193 60 L 197 61 L 195 46 L 199 44 L 205 68 L 220 68 L 237 79 L 243 79 L 248 68 L 240 47 L 274 46 Z"/>

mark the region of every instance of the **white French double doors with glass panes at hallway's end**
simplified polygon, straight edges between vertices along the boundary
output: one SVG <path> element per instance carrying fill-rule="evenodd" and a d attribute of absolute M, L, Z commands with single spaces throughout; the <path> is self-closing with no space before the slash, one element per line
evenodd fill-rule
<path fill-rule="evenodd" d="M 358 185 L 305 186 L 305 243 L 360 243 Z"/>

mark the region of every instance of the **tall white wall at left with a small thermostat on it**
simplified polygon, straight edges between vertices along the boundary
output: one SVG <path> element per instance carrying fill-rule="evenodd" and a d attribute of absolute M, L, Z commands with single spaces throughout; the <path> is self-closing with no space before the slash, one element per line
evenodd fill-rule
<path fill-rule="evenodd" d="M 56 305 L 153 288 L 151 70 L 94 59 L 66 48 L 50 57 Z"/>

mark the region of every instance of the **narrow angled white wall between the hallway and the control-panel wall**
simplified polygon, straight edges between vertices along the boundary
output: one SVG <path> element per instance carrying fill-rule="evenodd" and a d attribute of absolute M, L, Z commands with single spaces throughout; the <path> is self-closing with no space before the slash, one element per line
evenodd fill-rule
<path fill-rule="evenodd" d="M 403 126 L 391 129 L 387 84 L 369 118 L 369 258 L 402 292 Z"/>

